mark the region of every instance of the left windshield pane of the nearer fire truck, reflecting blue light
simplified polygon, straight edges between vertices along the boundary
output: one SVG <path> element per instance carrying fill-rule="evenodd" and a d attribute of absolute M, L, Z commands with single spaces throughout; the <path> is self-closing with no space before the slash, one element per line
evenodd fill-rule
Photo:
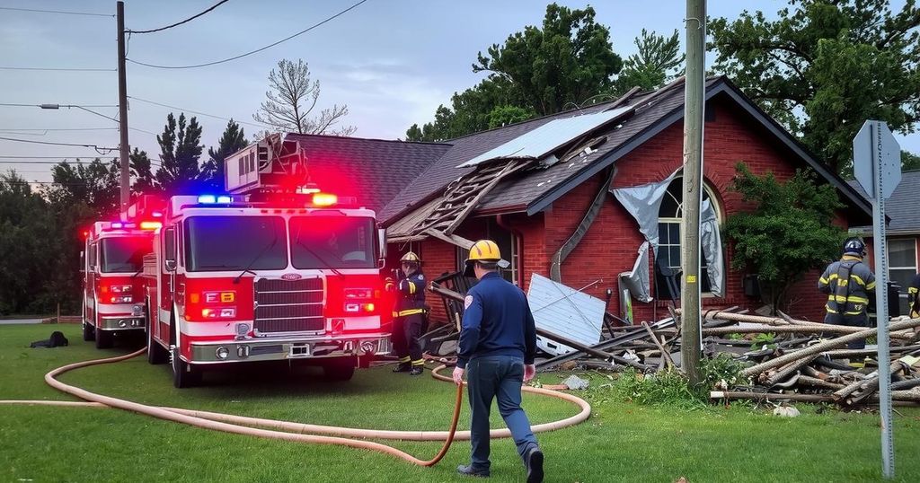
<path fill-rule="evenodd" d="M 284 220 L 279 216 L 192 216 L 183 231 L 186 270 L 287 268 Z"/>

